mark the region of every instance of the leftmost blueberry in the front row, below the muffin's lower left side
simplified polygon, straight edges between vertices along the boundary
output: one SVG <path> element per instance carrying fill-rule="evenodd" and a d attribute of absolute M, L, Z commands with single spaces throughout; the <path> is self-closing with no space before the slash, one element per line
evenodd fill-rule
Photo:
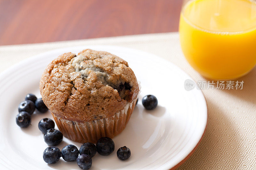
<path fill-rule="evenodd" d="M 44 150 L 43 159 L 47 164 L 55 164 L 60 160 L 60 149 L 54 146 L 50 146 Z"/>

